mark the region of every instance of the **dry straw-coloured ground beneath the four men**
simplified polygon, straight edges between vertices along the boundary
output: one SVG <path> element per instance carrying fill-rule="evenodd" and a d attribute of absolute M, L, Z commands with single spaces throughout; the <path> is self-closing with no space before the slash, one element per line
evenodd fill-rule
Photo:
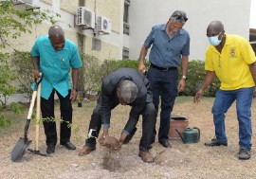
<path fill-rule="evenodd" d="M 256 104 L 252 106 L 252 157 L 241 161 L 237 158 L 238 122 L 235 103 L 230 107 L 226 117 L 226 130 L 229 137 L 228 147 L 205 147 L 204 143 L 214 137 L 214 126 L 210 113 L 214 98 L 203 98 L 201 103 L 193 104 L 192 97 L 178 97 L 174 106 L 174 115 L 189 118 L 189 126 L 201 130 L 201 139 L 196 144 L 183 144 L 181 140 L 171 140 L 173 148 L 165 149 L 157 141 L 151 152 L 155 163 L 144 163 L 138 157 L 138 143 L 141 136 L 141 119 L 137 133 L 130 143 L 123 145 L 119 152 L 110 152 L 100 144 L 97 150 L 86 156 L 78 152 L 84 145 L 90 116 L 95 102 L 83 103 L 82 108 L 74 103 L 74 123 L 72 142 L 76 151 L 68 151 L 59 144 L 51 156 L 40 156 L 26 152 L 20 162 L 10 161 L 10 152 L 19 137 L 23 136 L 26 114 L 13 119 L 11 129 L 0 129 L 0 176 L 1 178 L 256 178 Z M 255 100 L 255 99 L 254 99 Z M 110 134 L 119 138 L 130 112 L 129 106 L 118 106 L 112 112 Z M 59 106 L 56 106 L 56 117 L 59 117 Z M 157 118 L 156 128 L 158 128 Z M 59 125 L 58 125 L 59 127 Z M 32 121 L 28 138 L 33 142 L 35 126 Z M 43 126 L 40 127 L 40 152 L 46 152 Z"/>

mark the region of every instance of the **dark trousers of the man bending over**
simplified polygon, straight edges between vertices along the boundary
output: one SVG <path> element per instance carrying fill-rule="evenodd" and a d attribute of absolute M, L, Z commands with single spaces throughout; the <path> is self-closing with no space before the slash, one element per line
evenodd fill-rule
<path fill-rule="evenodd" d="M 119 103 L 113 101 L 111 109 L 114 109 Z M 144 109 L 141 111 L 142 115 L 142 136 L 139 142 L 139 150 L 147 152 L 151 147 L 151 142 L 155 130 L 156 112 L 155 105 L 153 102 L 145 103 Z M 97 106 L 91 116 L 89 130 L 93 129 L 95 132 L 92 133 L 94 137 L 89 137 L 85 140 L 85 146 L 95 147 L 96 137 L 99 136 L 101 131 L 101 95 L 97 100 Z"/>

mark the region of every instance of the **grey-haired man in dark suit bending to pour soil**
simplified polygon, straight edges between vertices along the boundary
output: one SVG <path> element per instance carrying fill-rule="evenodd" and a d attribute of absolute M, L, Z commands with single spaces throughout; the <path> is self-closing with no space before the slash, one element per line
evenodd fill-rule
<path fill-rule="evenodd" d="M 144 162 L 153 162 L 149 150 L 155 130 L 155 106 L 149 81 L 133 68 L 119 68 L 105 77 L 101 85 L 101 95 L 91 116 L 88 138 L 79 155 L 96 150 L 96 138 L 103 127 L 101 137 L 108 135 L 111 110 L 118 104 L 132 106 L 129 119 L 120 135 L 119 144 L 128 143 L 135 134 L 137 120 L 142 115 L 142 137 L 139 142 L 138 155 Z"/>

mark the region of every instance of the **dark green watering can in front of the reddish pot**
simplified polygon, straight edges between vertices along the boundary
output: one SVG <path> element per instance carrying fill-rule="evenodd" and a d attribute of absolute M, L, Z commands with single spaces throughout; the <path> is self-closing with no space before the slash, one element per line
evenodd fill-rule
<path fill-rule="evenodd" d="M 177 129 L 175 131 L 180 135 L 184 144 L 197 143 L 200 140 L 200 130 L 197 127 L 188 127 L 183 131 L 183 134 L 180 134 Z"/>

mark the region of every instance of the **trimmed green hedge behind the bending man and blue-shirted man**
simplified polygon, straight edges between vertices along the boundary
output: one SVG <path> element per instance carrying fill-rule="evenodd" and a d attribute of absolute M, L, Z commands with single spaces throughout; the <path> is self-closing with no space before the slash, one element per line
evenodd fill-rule
<path fill-rule="evenodd" d="M 122 60 L 122 61 L 104 61 L 99 63 L 99 60 L 93 56 L 86 55 L 85 60 L 85 91 L 99 92 L 101 90 L 101 80 L 110 74 L 112 71 L 120 67 L 136 68 L 138 61 Z M 150 63 L 146 62 L 147 67 Z M 179 76 L 181 78 L 181 68 L 179 68 Z M 180 93 L 181 96 L 194 96 L 203 81 L 205 81 L 205 63 L 203 61 L 191 61 L 189 63 L 188 81 L 186 82 L 185 90 Z M 216 91 L 219 89 L 220 81 L 215 78 L 210 86 L 205 90 L 205 97 L 215 97 Z"/>

